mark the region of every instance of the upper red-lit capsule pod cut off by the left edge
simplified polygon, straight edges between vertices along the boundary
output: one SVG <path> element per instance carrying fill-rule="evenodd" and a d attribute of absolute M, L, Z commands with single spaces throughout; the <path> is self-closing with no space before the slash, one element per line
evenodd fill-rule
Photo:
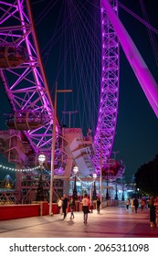
<path fill-rule="evenodd" d="M 24 47 L 0 44 L 0 69 L 18 67 L 26 61 L 28 58 Z"/>

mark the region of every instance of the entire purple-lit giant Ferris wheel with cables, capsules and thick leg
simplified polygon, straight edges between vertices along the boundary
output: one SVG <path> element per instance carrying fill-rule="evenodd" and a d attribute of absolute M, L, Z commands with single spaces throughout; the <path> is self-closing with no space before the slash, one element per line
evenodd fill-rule
<path fill-rule="evenodd" d="M 150 71 L 142 73 L 139 66 L 140 63 L 144 66 L 142 58 L 134 61 L 131 58 L 137 49 L 131 38 L 119 31 L 118 1 L 102 0 L 98 5 L 95 1 L 50 1 L 39 15 L 36 14 L 36 1 L 12 2 L 0 2 L 0 77 L 12 109 L 6 113 L 6 125 L 16 131 L 23 154 L 14 158 L 15 148 L 13 151 L 9 147 L 4 155 L 18 168 L 27 169 L 37 165 L 38 155 L 45 154 L 47 169 L 50 169 L 52 126 L 56 119 L 55 174 L 64 176 L 67 169 L 70 172 L 74 159 L 81 169 L 84 157 L 89 165 L 81 175 L 100 174 L 100 161 L 103 160 L 101 165 L 106 165 L 111 157 L 116 133 L 120 44 L 132 69 L 136 70 L 153 112 L 158 115 L 157 84 Z M 64 7 L 61 16 L 60 7 Z M 52 8 L 55 15 L 50 21 Z M 37 19 L 34 19 L 35 14 Z M 47 31 L 42 27 L 45 16 L 48 16 Z M 46 40 L 51 29 L 54 33 Z M 124 39 L 131 43 L 130 49 Z M 56 60 L 51 64 L 50 59 Z M 48 79 L 46 69 L 51 73 Z M 144 74 L 150 87 L 142 80 Z M 72 89 L 73 92 L 63 96 L 58 93 L 61 103 L 58 103 L 59 114 L 54 118 L 56 80 L 58 89 Z M 66 133 L 85 134 L 84 144 L 80 145 L 85 151 L 79 149 L 81 156 L 72 153 L 71 163 L 68 162 L 68 137 L 63 134 L 65 127 Z M 74 151 L 72 145 L 70 149 Z M 19 151 L 16 149 L 18 154 Z"/>

